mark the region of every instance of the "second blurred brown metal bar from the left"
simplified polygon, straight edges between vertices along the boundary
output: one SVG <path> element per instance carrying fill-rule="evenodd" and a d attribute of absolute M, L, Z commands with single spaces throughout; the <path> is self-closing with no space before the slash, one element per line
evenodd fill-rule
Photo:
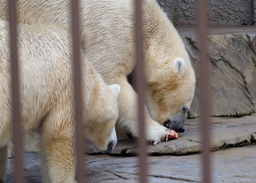
<path fill-rule="evenodd" d="M 79 41 L 79 3 L 72 0 L 72 21 L 73 21 L 73 60 L 74 60 L 74 81 L 75 81 L 75 120 L 76 120 L 76 178 L 78 183 L 84 183 L 84 148 L 82 134 L 82 112 L 81 112 L 81 69 L 80 69 L 80 41 Z"/>

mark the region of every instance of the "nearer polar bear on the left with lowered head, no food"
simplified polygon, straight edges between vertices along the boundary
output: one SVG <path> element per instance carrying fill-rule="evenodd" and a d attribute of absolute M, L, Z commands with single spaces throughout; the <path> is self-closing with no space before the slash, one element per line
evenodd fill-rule
<path fill-rule="evenodd" d="M 75 182 L 75 123 L 72 41 L 57 23 L 17 29 L 22 132 L 40 129 L 43 181 Z M 0 182 L 12 139 L 9 22 L 0 20 Z M 104 83 L 81 52 L 84 136 L 100 152 L 116 146 L 120 86 Z M 3 163 L 5 162 L 5 163 Z"/>

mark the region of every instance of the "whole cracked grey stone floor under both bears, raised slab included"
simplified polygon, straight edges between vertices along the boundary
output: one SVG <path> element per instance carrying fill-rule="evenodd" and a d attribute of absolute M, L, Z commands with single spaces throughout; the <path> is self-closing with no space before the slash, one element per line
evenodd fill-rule
<path fill-rule="evenodd" d="M 213 183 L 256 182 L 256 114 L 244 117 L 211 117 L 211 166 Z M 152 146 L 148 144 L 148 180 L 154 183 L 202 182 L 200 118 L 186 120 L 180 137 Z M 239 146 L 239 144 L 242 146 Z M 250 146 L 243 146 L 251 144 Z M 239 146 L 236 148 L 230 148 Z M 228 149 L 225 149 L 227 148 Z M 216 151 L 218 150 L 218 151 Z M 88 152 L 94 153 L 93 149 Z M 198 154 L 199 153 L 199 154 Z M 139 160 L 136 140 L 123 140 L 111 155 L 85 156 L 88 183 L 137 183 Z M 190 155 L 188 155 L 190 154 Z M 175 155 L 175 156 L 172 156 Z M 23 155 L 27 183 L 41 183 L 38 153 Z M 13 180 L 14 159 L 8 159 L 6 183 Z"/>

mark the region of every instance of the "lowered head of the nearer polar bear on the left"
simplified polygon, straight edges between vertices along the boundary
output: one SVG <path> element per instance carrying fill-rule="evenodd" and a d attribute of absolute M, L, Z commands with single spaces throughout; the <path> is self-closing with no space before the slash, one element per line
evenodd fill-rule
<path fill-rule="evenodd" d="M 110 154 L 117 143 L 115 124 L 119 92 L 120 86 L 117 84 L 102 87 L 97 98 L 92 101 L 93 106 L 87 110 L 87 123 L 84 126 L 86 138 L 104 154 Z"/>

